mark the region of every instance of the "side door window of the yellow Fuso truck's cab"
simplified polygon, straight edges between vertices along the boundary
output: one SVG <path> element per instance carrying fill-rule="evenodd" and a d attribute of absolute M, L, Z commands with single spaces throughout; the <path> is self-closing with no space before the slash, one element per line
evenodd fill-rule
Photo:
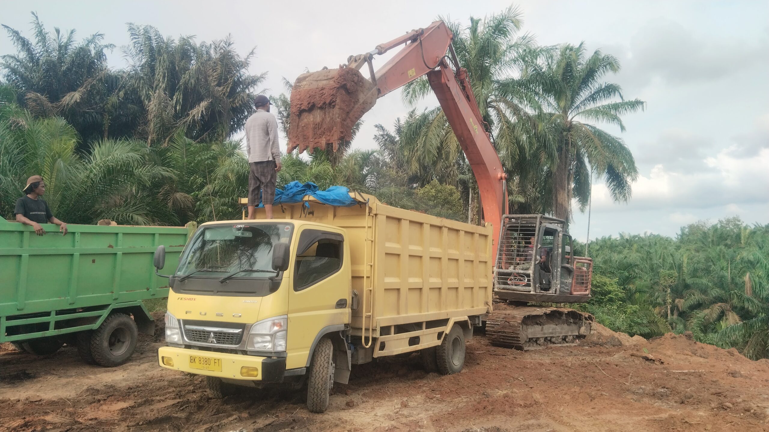
<path fill-rule="evenodd" d="M 301 291 L 341 269 L 343 237 L 336 232 L 305 229 L 299 236 L 294 290 Z"/>

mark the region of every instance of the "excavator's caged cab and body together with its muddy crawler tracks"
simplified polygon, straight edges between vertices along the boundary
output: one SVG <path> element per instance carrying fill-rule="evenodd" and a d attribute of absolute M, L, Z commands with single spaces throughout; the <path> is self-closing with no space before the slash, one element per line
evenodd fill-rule
<path fill-rule="evenodd" d="M 575 257 L 561 219 L 504 215 L 494 265 L 494 312 L 486 318 L 491 345 L 530 350 L 571 345 L 590 334 L 593 316 L 530 303 L 590 299 L 593 260 Z"/>

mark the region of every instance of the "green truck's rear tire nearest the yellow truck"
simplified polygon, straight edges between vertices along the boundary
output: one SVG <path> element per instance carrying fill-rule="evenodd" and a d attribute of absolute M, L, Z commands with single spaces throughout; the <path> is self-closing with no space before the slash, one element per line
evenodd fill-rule
<path fill-rule="evenodd" d="M 91 336 L 94 363 L 105 368 L 120 366 L 134 353 L 137 339 L 138 328 L 130 316 L 109 315 Z"/>

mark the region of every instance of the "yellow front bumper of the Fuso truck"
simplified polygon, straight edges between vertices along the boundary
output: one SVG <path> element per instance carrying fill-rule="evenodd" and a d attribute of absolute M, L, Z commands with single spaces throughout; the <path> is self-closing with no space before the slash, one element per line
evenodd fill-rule
<path fill-rule="evenodd" d="M 189 361 L 191 355 L 221 359 L 221 372 L 191 368 Z M 170 367 L 163 364 L 163 357 L 170 357 L 174 361 L 174 366 Z M 158 349 L 158 364 L 162 368 L 188 372 L 190 374 L 262 382 L 281 382 L 283 381 L 283 377 L 285 376 L 286 371 L 285 358 L 268 358 L 256 357 L 252 355 L 225 354 L 215 351 L 202 351 L 168 346 Z M 258 368 L 257 376 L 241 376 L 241 368 L 244 366 Z"/>

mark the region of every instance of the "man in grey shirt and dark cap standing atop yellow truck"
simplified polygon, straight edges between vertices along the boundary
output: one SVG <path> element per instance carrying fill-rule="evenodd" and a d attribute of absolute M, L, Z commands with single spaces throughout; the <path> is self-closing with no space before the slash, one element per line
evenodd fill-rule
<path fill-rule="evenodd" d="M 270 100 L 264 94 L 256 97 L 256 112 L 245 121 L 245 149 L 248 154 L 248 219 L 256 219 L 256 206 L 265 204 L 267 219 L 272 219 L 275 201 L 275 177 L 281 170 L 278 147 L 278 120 L 270 114 Z"/>

